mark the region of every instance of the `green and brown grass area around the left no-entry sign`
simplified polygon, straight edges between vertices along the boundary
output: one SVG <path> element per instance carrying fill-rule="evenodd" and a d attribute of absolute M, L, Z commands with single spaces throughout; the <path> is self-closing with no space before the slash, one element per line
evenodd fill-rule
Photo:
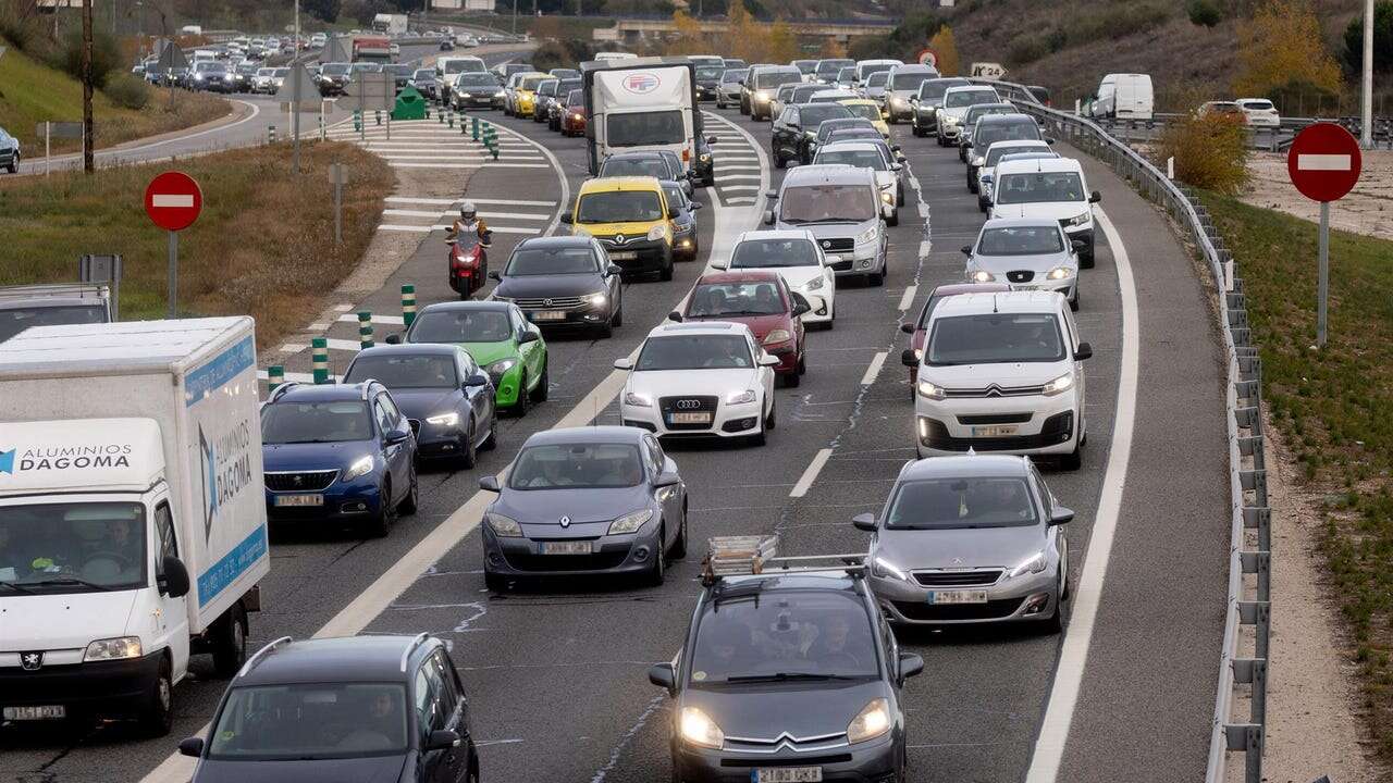
<path fill-rule="evenodd" d="M 337 248 L 330 163 L 350 170 Z M 164 318 L 169 237 L 143 203 L 149 181 L 177 169 L 203 191 L 198 223 L 180 233 L 180 315 L 248 313 L 260 347 L 276 344 L 318 315 L 320 298 L 358 265 L 394 180 L 382 159 L 338 142 L 302 145 L 299 177 L 290 166 L 290 145 L 280 144 L 92 177 L 0 178 L 0 284 L 72 280 L 78 256 L 120 254 L 121 319 Z"/>

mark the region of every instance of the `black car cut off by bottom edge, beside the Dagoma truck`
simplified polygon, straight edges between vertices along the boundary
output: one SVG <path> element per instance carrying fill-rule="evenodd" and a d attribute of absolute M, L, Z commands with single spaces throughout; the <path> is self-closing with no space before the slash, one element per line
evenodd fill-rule
<path fill-rule="evenodd" d="M 443 641 L 364 635 L 270 642 L 180 743 L 194 783 L 478 783 L 469 704 Z"/>

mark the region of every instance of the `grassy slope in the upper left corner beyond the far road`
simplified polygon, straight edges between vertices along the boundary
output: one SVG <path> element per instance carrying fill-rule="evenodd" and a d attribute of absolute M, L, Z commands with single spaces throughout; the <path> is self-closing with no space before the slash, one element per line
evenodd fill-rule
<path fill-rule="evenodd" d="M 0 42 L 3 43 L 3 42 Z M 231 111 L 231 104 L 206 93 L 155 89 L 145 109 L 123 109 L 98 91 L 92 96 L 92 130 L 98 149 L 131 139 L 208 123 Z M 82 85 L 15 47 L 0 57 L 0 127 L 20 139 L 24 157 L 43 156 L 43 137 L 35 125 L 82 120 Z M 81 139 L 53 139 L 53 153 L 82 149 Z"/>

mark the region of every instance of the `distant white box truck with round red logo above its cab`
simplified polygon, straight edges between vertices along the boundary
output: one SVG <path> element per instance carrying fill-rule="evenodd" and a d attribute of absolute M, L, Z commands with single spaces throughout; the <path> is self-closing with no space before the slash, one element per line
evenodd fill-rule
<path fill-rule="evenodd" d="M 591 174 L 614 152 L 669 149 L 690 170 L 702 132 L 696 79 L 685 57 L 637 57 L 581 64 Z"/>

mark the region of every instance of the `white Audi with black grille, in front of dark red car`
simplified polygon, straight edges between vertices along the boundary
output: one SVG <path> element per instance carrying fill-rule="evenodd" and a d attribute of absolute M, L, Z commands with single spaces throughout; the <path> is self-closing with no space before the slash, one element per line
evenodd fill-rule
<path fill-rule="evenodd" d="M 744 323 L 664 323 L 648 333 L 620 396 L 624 426 L 659 436 L 749 437 L 775 428 L 775 366 Z"/>

